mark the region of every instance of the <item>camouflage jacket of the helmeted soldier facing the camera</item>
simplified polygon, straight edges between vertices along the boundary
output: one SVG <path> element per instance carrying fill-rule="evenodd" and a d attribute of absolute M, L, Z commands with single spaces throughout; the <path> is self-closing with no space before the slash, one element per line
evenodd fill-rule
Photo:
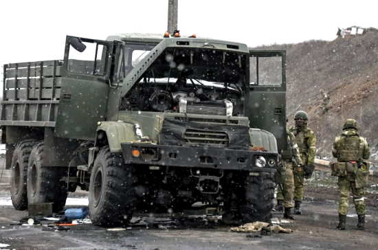
<path fill-rule="evenodd" d="M 303 165 L 313 165 L 316 152 L 316 137 L 311 128 L 290 128 L 296 137 Z"/>

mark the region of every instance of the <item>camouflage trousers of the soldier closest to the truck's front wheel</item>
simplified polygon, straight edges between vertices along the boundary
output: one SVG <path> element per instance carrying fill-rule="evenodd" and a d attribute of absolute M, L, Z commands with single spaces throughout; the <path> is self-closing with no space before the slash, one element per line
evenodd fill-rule
<path fill-rule="evenodd" d="M 286 177 L 283 185 L 278 185 L 277 200 L 283 201 L 284 207 L 293 207 L 294 176 L 293 165 L 291 162 L 285 162 Z M 282 188 L 284 190 L 282 190 Z"/>

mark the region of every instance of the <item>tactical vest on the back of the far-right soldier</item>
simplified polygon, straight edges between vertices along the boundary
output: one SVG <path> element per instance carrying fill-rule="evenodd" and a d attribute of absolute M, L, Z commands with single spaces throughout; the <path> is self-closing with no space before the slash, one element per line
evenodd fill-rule
<path fill-rule="evenodd" d="M 362 159 L 363 141 L 358 135 L 341 135 L 337 142 L 338 161 L 357 161 Z"/>

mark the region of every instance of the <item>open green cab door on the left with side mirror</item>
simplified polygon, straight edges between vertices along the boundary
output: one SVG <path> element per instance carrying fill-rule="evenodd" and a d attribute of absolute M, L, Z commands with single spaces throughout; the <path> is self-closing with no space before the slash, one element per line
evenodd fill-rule
<path fill-rule="evenodd" d="M 93 139 L 107 119 L 113 42 L 67 36 L 55 135 Z"/>

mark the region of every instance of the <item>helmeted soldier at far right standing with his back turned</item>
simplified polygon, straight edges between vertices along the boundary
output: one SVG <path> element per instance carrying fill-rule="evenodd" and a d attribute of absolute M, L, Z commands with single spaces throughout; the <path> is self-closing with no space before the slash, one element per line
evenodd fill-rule
<path fill-rule="evenodd" d="M 356 120 L 346 120 L 343 130 L 342 135 L 335 138 L 332 154 L 337 158 L 337 162 L 331 166 L 332 175 L 339 177 L 340 203 L 337 228 L 345 230 L 349 193 L 352 191 L 358 215 L 357 229 L 364 230 L 366 205 L 363 195 L 368 183 L 370 149 L 366 139 L 357 134 Z"/>

